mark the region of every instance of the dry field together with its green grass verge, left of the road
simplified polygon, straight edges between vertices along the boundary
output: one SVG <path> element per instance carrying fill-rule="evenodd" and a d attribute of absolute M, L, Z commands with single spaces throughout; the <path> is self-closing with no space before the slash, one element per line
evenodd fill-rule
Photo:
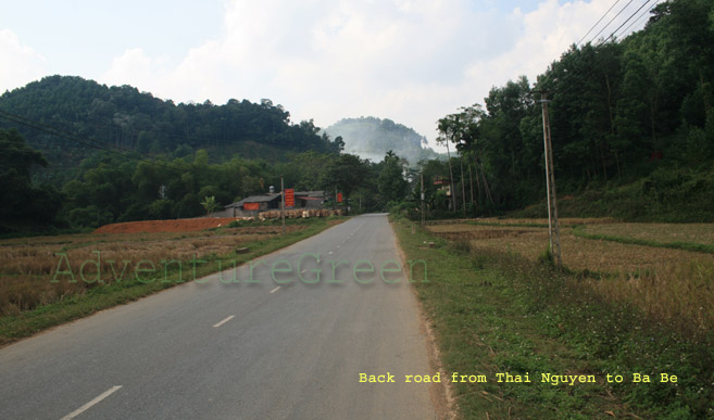
<path fill-rule="evenodd" d="M 234 260 L 243 264 L 342 220 L 287 219 L 285 236 L 275 221 L 252 221 L 201 232 L 5 240 L 0 243 L 0 345 L 210 275 L 220 264 L 223 269 Z M 241 247 L 250 252 L 238 253 Z M 193 258 L 206 263 L 193 271 Z M 141 271 L 152 267 L 154 272 Z"/>

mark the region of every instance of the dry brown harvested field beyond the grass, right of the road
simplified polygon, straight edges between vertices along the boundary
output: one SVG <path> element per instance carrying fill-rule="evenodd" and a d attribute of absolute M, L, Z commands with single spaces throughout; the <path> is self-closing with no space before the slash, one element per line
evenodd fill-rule
<path fill-rule="evenodd" d="M 479 219 L 478 221 L 483 221 Z M 466 241 L 473 253 L 497 251 L 537 260 L 548 247 L 548 229 L 509 225 L 547 220 L 498 220 L 502 226 L 434 225 L 427 229 L 451 241 Z M 584 222 L 585 221 L 585 222 Z M 573 225 L 586 232 L 646 239 L 656 242 L 711 244 L 714 225 L 617 224 L 569 219 L 561 229 L 563 265 L 572 270 L 606 275 L 586 279 L 585 287 L 609 300 L 634 304 L 655 317 L 706 333 L 714 328 L 714 255 L 623 244 L 575 237 Z"/>

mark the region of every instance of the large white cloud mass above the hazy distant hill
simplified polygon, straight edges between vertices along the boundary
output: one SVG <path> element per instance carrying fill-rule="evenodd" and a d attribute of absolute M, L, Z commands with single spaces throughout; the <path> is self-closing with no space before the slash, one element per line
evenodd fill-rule
<path fill-rule="evenodd" d="M 438 118 L 492 86 L 534 81 L 610 3 L 546 0 L 504 15 L 468 0 L 233 0 L 217 39 L 173 65 L 127 50 L 102 81 L 175 101 L 271 98 L 320 126 L 388 117 L 433 140 Z"/>

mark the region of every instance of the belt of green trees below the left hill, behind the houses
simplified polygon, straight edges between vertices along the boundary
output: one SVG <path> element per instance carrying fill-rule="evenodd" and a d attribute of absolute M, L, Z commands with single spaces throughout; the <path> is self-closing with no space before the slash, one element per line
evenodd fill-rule
<path fill-rule="evenodd" d="M 78 175 L 61 189 L 33 180 L 32 171 L 50 167 L 15 130 L 0 129 L 0 234 L 47 233 L 62 228 L 206 215 L 206 202 L 226 205 L 271 186 L 327 190 L 331 203 L 352 212 L 384 209 L 406 192 L 403 160 L 389 152 L 372 163 L 339 150 L 293 152 L 281 161 L 238 154 L 210 162 L 199 149 L 181 157 L 147 158 L 137 153 L 98 152 L 78 165 Z M 333 192 L 345 202 L 336 204 Z"/>

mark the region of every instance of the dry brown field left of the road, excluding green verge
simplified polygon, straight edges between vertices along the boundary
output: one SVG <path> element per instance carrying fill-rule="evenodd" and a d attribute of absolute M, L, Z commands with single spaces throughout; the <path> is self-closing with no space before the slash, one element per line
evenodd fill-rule
<path fill-rule="evenodd" d="M 287 226 L 288 232 L 302 229 L 305 227 Z M 198 259 L 227 255 L 246 243 L 280 232 L 279 226 L 260 226 L 183 233 L 71 234 L 4 240 L 0 242 L 0 316 L 61 301 L 96 287 L 95 282 L 82 281 L 79 268 L 86 260 L 96 262 L 97 252 L 100 253 L 101 282 L 110 283 L 115 277 L 121 278 L 125 260 L 130 262 L 124 276 L 128 280 L 135 273 L 133 268 L 141 260 L 152 262 L 161 273 L 166 265 L 162 260 L 188 262 L 195 255 Z M 168 264 L 170 269 L 178 265 Z M 67 270 L 73 271 L 76 282 L 70 281 L 70 275 L 60 275 L 58 281 L 52 282 L 57 271 Z M 190 268 L 183 268 L 183 271 L 186 278 Z M 84 272 L 88 280 L 95 279 L 96 266 L 87 264 Z"/>

